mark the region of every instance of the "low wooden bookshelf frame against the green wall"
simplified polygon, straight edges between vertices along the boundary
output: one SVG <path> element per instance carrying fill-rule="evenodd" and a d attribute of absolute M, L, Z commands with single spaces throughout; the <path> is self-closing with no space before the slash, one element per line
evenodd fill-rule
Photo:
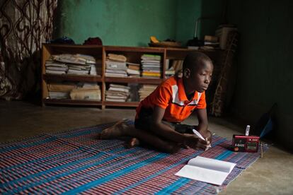
<path fill-rule="evenodd" d="M 137 107 L 139 102 L 108 102 L 105 101 L 105 91 L 110 83 L 128 85 L 130 83 L 137 84 L 155 84 L 159 85 L 166 75 L 166 59 L 183 60 L 193 49 L 181 48 L 163 48 L 163 47 L 118 47 L 118 46 L 93 46 L 93 45 L 42 45 L 42 105 L 82 105 L 97 107 Z M 219 59 L 221 51 L 201 51 L 205 52 L 212 59 Z M 105 59 L 107 54 L 122 54 L 127 57 L 128 62 L 141 64 L 143 54 L 156 54 L 161 56 L 161 77 L 160 78 L 144 78 L 144 77 L 106 77 L 105 76 Z M 50 59 L 52 54 L 86 54 L 102 61 L 101 75 L 72 75 L 72 74 L 48 74 L 45 73 L 45 61 Z M 218 60 L 219 61 L 219 60 Z M 220 66 L 219 66 L 220 69 Z M 100 85 L 101 100 L 59 100 L 50 99 L 47 84 L 58 83 L 64 81 L 97 83 Z"/>

